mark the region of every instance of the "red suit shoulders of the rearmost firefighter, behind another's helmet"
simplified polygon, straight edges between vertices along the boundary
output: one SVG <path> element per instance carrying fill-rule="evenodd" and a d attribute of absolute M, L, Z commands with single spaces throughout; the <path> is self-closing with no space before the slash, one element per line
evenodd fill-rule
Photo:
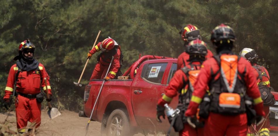
<path fill-rule="evenodd" d="M 212 52 L 210 50 L 207 50 L 207 56 L 206 59 L 211 58 L 213 56 Z M 188 65 L 189 54 L 187 54 L 185 51 L 181 53 L 178 57 L 178 66 L 177 70 L 183 68 L 184 66 Z"/>

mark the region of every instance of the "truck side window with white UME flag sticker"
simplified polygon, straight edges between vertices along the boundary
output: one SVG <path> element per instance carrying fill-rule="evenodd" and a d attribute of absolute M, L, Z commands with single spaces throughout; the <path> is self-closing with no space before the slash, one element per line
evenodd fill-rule
<path fill-rule="evenodd" d="M 150 82 L 161 83 L 167 63 L 149 64 L 145 69 L 144 78 Z M 145 67 L 145 66 L 144 66 Z"/>

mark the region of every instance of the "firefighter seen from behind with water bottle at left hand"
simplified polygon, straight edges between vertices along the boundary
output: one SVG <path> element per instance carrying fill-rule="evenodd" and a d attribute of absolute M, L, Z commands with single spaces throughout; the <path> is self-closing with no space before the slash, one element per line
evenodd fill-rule
<path fill-rule="evenodd" d="M 179 96 L 179 105 L 182 104 L 181 107 L 184 107 L 184 110 L 181 109 L 184 114 L 187 106 L 189 104 L 189 100 L 192 95 L 192 84 L 194 84 L 195 79 L 200 72 L 200 66 L 203 61 L 205 61 L 205 56 L 207 55 L 207 47 L 205 42 L 200 39 L 195 39 L 191 41 L 186 47 L 186 53 L 189 54 L 189 65 L 181 68 L 176 71 L 175 75 L 171 79 L 168 87 L 165 90 L 165 94 L 159 99 L 157 104 L 157 120 L 161 122 L 160 116 L 164 118 L 164 104 L 169 104 L 173 97 Z M 188 71 L 188 72 L 186 72 Z M 186 75 L 188 74 L 188 76 Z M 189 77 L 189 78 L 188 78 Z M 188 102 L 186 102 L 188 99 Z M 183 101 L 184 100 L 184 101 Z M 179 106 L 178 106 L 179 108 Z M 191 128 L 190 125 L 184 122 L 183 130 L 179 132 L 180 136 L 200 136 L 202 135 L 201 129 Z"/>

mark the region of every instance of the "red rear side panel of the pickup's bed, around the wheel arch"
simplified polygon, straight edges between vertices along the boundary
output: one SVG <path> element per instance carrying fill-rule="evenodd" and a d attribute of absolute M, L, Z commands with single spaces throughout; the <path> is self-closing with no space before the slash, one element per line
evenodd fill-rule
<path fill-rule="evenodd" d="M 126 103 L 130 101 L 128 97 L 130 97 L 130 86 L 132 81 L 133 80 L 108 80 L 105 82 L 96 103 L 94 113 L 92 114 L 92 119 L 101 121 L 105 107 L 110 101 L 122 101 Z M 87 117 L 91 115 L 102 82 L 103 80 L 91 80 L 89 83 L 89 85 L 91 85 L 89 98 L 84 104 L 84 112 Z M 97 112 L 100 113 L 97 114 Z"/>

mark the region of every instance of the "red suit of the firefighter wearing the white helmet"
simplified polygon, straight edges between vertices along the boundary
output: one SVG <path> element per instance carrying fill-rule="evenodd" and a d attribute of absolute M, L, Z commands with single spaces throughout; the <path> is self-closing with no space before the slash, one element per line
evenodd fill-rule
<path fill-rule="evenodd" d="M 270 87 L 270 81 L 269 81 L 270 77 L 269 77 L 268 71 L 265 69 L 265 67 L 257 65 L 256 63 L 254 63 L 252 65 L 253 66 L 258 66 L 258 68 L 262 72 L 264 72 L 264 73 L 262 73 L 262 74 L 264 74 L 264 75 L 262 75 L 262 82 L 264 82 L 267 85 L 267 87 Z M 257 79 L 258 79 L 257 82 L 259 84 L 259 82 L 260 82 L 259 73 L 254 67 L 253 67 L 253 72 L 255 74 L 255 77 L 257 77 Z M 254 125 L 253 125 L 253 127 L 249 126 L 248 127 L 248 133 L 255 134 L 255 132 L 259 132 L 260 128 L 267 128 L 267 129 L 270 130 L 269 106 L 264 106 L 264 112 L 265 112 L 264 118 L 266 119 L 266 121 L 264 123 L 258 125 L 258 126 L 256 125 L 256 131 L 253 129 Z"/>

